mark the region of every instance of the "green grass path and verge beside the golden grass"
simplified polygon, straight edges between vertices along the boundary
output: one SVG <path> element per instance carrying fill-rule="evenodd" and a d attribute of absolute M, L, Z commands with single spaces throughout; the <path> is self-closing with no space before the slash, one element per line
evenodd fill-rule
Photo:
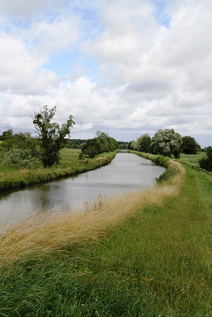
<path fill-rule="evenodd" d="M 101 240 L 5 267 L 0 316 L 212 317 L 212 182 L 185 168 L 177 197 Z"/>

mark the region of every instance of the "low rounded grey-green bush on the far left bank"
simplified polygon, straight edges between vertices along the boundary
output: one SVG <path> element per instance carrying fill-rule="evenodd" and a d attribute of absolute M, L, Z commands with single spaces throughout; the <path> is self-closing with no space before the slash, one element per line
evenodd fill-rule
<path fill-rule="evenodd" d="M 33 167 L 31 158 L 30 150 L 15 149 L 5 154 L 1 164 L 2 166 L 11 167 L 15 170 L 21 168 L 31 169 Z"/>

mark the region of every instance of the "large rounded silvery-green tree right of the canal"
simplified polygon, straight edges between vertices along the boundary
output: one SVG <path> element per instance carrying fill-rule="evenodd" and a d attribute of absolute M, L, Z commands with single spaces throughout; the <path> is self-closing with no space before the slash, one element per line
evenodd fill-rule
<path fill-rule="evenodd" d="M 174 148 L 179 148 L 182 144 L 182 138 L 174 129 L 159 129 L 151 139 L 149 151 L 152 154 L 160 154 L 171 156 L 171 151 Z"/>

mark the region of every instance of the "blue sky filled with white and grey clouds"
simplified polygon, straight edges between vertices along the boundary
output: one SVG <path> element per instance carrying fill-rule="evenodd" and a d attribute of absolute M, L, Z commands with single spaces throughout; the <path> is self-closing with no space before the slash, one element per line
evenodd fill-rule
<path fill-rule="evenodd" d="M 212 146 L 211 30 L 211 0 L 0 0 L 0 134 L 56 105 L 73 139 Z"/>

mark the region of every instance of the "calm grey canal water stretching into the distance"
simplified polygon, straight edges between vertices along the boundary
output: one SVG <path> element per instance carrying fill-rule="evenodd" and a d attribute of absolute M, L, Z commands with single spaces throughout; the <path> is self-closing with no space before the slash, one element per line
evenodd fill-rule
<path fill-rule="evenodd" d="M 70 207 L 90 201 L 94 196 L 112 196 L 155 184 L 165 169 L 148 159 L 120 151 L 107 166 L 83 174 L 60 178 L 22 189 L 0 192 L 0 216 L 25 213 L 41 208 Z M 3 217 L 4 218 L 4 217 Z M 2 218 L 2 219 L 3 219 Z"/>

